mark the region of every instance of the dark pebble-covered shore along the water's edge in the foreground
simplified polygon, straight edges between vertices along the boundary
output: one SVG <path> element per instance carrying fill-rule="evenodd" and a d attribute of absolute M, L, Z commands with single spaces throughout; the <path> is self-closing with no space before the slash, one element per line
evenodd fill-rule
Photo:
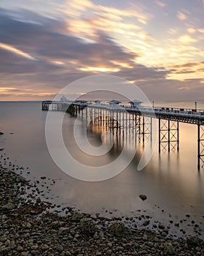
<path fill-rule="evenodd" d="M 7 158 L 1 155 L 1 160 Z M 27 189 L 39 189 L 15 173 L 14 166 L 5 168 L 0 164 L 0 255 L 204 254 L 201 238 L 175 238 L 160 224 L 157 232 L 149 230 L 149 219 L 145 219 L 143 229 L 138 229 L 131 219 L 131 227 L 127 227 L 120 217 L 93 217 L 71 207 L 64 209 L 65 216 L 52 213 L 52 203 L 26 195 Z"/>

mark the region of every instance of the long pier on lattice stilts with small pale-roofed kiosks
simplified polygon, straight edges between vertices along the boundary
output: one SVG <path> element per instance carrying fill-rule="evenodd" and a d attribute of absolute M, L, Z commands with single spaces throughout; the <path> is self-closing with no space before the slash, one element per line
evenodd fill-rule
<path fill-rule="evenodd" d="M 71 116 L 81 115 L 113 131 L 133 129 L 144 142 L 146 135 L 152 138 L 152 118 L 158 119 L 159 151 L 167 148 L 179 151 L 179 123 L 197 125 L 197 169 L 204 167 L 204 110 L 184 108 L 149 108 L 139 101 L 129 106 L 119 105 L 118 101 L 106 104 L 100 101 L 87 103 L 85 100 L 52 102 L 43 101 L 42 110 L 63 111 Z M 82 111 L 85 109 L 85 111 Z"/>

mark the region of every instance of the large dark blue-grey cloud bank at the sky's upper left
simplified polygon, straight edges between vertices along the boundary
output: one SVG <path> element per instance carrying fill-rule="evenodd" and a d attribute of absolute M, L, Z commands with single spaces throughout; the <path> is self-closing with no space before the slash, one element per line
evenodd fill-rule
<path fill-rule="evenodd" d="M 34 16 L 34 14 L 31 14 Z M 50 67 L 66 64 L 71 68 L 72 64 L 76 69 L 83 67 L 119 67 L 119 63 L 132 62 L 137 58 L 136 53 L 127 52 L 124 48 L 117 45 L 111 37 L 98 31 L 97 39 L 94 43 L 85 42 L 85 40 L 64 34 L 65 23 L 58 22 L 56 25 L 52 20 L 44 18 L 44 26 L 34 23 L 25 23 L 12 18 L 2 18 L 0 23 L 0 36 L 3 40 L 2 46 L 13 45 L 9 51 L 15 53 L 17 48 L 25 48 L 38 59 L 38 65 L 45 64 Z M 9 33 L 8 33 L 9 31 Z M 16 50 L 15 50 L 16 49 Z M 32 59 L 30 56 L 19 52 L 18 54 Z M 9 55 L 8 55 L 9 56 Z M 29 58 L 28 58 L 29 57 Z M 12 56 L 9 56 L 12 58 Z M 113 64 L 112 61 L 115 61 Z M 118 64 L 117 64 L 118 63 Z M 29 71 L 30 72 L 30 71 Z"/>

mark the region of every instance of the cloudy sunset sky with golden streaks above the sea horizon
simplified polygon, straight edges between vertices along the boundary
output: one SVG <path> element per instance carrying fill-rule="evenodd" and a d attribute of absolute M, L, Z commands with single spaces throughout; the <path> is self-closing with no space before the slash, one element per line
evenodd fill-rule
<path fill-rule="evenodd" d="M 1 101 L 52 99 L 89 75 L 204 100 L 204 0 L 1 0 L 0 60 Z"/>

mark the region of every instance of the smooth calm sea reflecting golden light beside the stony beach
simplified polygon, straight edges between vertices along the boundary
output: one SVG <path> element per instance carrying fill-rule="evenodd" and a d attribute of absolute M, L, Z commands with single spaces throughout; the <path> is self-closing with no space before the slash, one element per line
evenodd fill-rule
<path fill-rule="evenodd" d="M 154 102 L 154 106 L 195 108 L 195 102 Z M 197 108 L 204 109 L 204 102 L 197 102 Z M 40 180 L 44 200 L 48 198 L 63 207 L 74 206 L 80 211 L 99 212 L 108 217 L 137 217 L 142 213 L 152 216 L 152 222 L 158 220 L 165 225 L 170 225 L 170 219 L 174 222 L 182 220 L 179 227 L 173 224 L 170 227 L 179 236 L 182 229 L 187 230 L 187 234 L 195 234 L 195 224 L 204 229 L 204 169 L 200 173 L 197 171 L 196 125 L 180 124 L 179 152 L 158 154 L 157 147 L 144 170 L 138 172 L 137 159 L 133 159 L 118 176 L 106 181 L 87 182 L 63 173 L 50 157 L 45 140 L 46 116 L 47 112 L 41 110 L 41 102 L 0 102 L 0 131 L 4 132 L 0 136 L 0 148 L 4 148 L 1 153 L 6 153 L 16 165 L 28 167 L 31 173 L 24 175 L 31 181 Z M 70 132 L 74 120 L 66 114 L 63 135 L 77 159 L 94 166 L 95 162 L 103 165 L 103 162 L 117 158 L 120 153 L 117 146 L 97 160 L 79 151 Z M 97 132 L 87 132 L 87 136 L 90 143 L 100 145 Z M 41 176 L 56 182 L 44 181 Z M 147 200 L 141 201 L 140 194 L 145 194 Z"/>

